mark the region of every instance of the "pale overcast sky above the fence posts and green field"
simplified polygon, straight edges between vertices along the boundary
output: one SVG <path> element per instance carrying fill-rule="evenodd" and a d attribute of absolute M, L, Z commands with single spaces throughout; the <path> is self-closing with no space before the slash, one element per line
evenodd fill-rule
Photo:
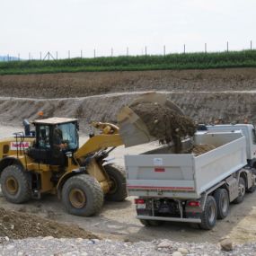
<path fill-rule="evenodd" d="M 256 49 L 255 0 L 0 0 L 0 56 Z"/>

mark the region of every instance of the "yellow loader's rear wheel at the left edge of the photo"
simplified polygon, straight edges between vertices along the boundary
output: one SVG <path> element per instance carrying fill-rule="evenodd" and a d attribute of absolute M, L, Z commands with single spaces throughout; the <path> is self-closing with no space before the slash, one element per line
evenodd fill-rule
<path fill-rule="evenodd" d="M 21 204 L 31 199 L 29 173 L 23 172 L 19 165 L 4 168 L 1 174 L 1 188 L 5 199 L 14 204 Z"/>

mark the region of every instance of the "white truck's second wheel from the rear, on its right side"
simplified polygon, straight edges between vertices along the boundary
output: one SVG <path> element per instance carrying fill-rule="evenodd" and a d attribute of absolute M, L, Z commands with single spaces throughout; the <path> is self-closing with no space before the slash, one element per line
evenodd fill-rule
<path fill-rule="evenodd" d="M 214 198 L 216 200 L 216 210 L 218 219 L 224 219 L 228 216 L 229 212 L 229 196 L 227 190 L 218 189 L 214 193 Z"/>

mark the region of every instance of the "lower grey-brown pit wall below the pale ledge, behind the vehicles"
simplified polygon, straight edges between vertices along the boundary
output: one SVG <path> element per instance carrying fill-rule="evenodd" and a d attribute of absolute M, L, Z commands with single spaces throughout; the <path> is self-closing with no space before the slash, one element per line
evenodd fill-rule
<path fill-rule="evenodd" d="M 166 93 L 168 98 L 197 122 L 211 123 L 244 119 L 256 122 L 256 92 L 197 92 Z M 21 125 L 22 119 L 36 119 L 40 110 L 45 117 L 74 117 L 80 128 L 88 132 L 93 120 L 115 122 L 118 110 L 141 93 L 112 93 L 66 99 L 26 99 L 0 97 L 0 123 Z"/>

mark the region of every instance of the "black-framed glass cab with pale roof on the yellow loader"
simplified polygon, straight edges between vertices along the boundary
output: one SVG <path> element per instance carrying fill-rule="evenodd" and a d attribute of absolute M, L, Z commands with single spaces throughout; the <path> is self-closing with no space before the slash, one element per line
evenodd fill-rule
<path fill-rule="evenodd" d="M 36 139 L 29 155 L 38 163 L 65 165 L 66 153 L 79 147 L 77 119 L 38 119 L 33 124 Z"/>

